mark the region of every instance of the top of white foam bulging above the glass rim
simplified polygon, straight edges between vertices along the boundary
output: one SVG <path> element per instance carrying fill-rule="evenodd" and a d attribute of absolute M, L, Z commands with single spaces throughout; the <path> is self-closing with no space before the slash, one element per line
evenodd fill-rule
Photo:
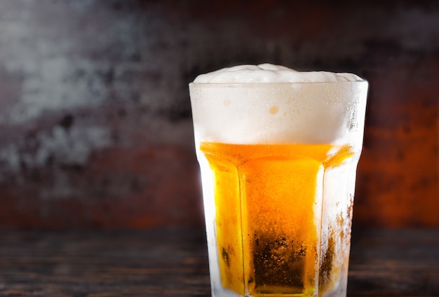
<path fill-rule="evenodd" d="M 276 82 L 333 82 L 333 81 L 363 81 L 356 74 L 334 73 L 325 71 L 298 72 L 288 67 L 260 64 L 238 65 L 223 68 L 214 72 L 200 74 L 194 83 L 276 83 Z"/>

